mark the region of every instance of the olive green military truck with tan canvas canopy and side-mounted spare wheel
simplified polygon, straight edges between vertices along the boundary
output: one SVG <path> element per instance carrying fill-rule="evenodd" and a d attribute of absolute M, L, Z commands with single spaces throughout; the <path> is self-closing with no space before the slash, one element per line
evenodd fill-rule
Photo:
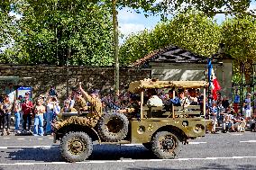
<path fill-rule="evenodd" d="M 140 96 L 137 112 L 104 113 L 94 127 L 87 125 L 86 114 L 62 113 L 59 121 L 53 124 L 54 142 L 60 140 L 60 155 L 69 162 L 86 160 L 92 153 L 93 142 L 100 145 L 142 144 L 156 157 L 174 158 L 178 156 L 180 144 L 206 135 L 209 123 L 205 119 L 206 86 L 205 81 L 135 81 L 129 85 L 129 91 Z M 172 89 L 175 94 L 178 88 L 203 90 L 203 107 L 172 104 L 167 109 L 165 106 L 151 107 L 144 102 L 148 89 Z"/>

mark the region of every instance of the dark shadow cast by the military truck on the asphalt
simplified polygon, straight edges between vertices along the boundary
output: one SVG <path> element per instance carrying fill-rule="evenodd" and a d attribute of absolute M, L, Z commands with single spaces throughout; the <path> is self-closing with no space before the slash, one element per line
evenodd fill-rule
<path fill-rule="evenodd" d="M 59 148 L 19 148 L 13 152 L 6 152 L 9 160 L 32 160 L 42 162 L 59 162 Z M 95 145 L 88 160 L 120 160 L 120 159 L 152 159 L 156 158 L 151 151 L 143 147 Z M 1 169 L 0 169 L 1 170 Z"/>

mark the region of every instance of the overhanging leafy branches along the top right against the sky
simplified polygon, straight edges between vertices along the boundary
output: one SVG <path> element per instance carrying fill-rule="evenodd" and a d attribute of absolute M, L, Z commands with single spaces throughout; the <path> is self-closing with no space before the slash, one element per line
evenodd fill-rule
<path fill-rule="evenodd" d="M 159 13 L 166 15 L 177 13 L 180 10 L 196 9 L 206 15 L 214 16 L 216 13 L 254 15 L 255 10 L 248 10 L 252 0 L 120 0 L 119 7 L 131 7 L 140 13 L 141 9 L 148 14 Z"/>

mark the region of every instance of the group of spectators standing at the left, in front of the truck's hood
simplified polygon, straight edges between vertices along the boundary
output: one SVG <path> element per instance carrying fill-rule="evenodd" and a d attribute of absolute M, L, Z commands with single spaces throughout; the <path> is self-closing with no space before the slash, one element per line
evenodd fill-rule
<path fill-rule="evenodd" d="M 31 95 L 25 93 L 17 99 L 10 97 L 8 93 L 1 96 L 0 103 L 0 129 L 1 135 L 11 133 L 11 117 L 14 115 L 14 133 L 28 134 L 34 136 L 50 135 L 52 132 L 51 122 L 60 112 L 58 94 L 54 87 L 50 87 L 47 96 L 40 95 L 32 102 Z M 32 127 L 33 122 L 33 127 Z"/>

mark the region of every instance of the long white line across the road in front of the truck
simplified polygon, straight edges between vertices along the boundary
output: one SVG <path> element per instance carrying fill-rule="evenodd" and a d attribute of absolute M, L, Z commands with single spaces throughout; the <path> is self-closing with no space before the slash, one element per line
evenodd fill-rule
<path fill-rule="evenodd" d="M 178 159 L 123 159 L 123 160 L 92 160 L 78 163 L 67 162 L 22 162 L 22 163 L 3 163 L 0 166 L 33 166 L 33 165 L 64 165 L 64 164 L 105 164 L 105 163 L 131 163 L 131 162 L 162 162 L 162 161 L 189 161 L 189 160 L 216 160 L 216 159 L 245 159 L 255 157 L 202 157 L 202 158 L 178 158 Z"/>

